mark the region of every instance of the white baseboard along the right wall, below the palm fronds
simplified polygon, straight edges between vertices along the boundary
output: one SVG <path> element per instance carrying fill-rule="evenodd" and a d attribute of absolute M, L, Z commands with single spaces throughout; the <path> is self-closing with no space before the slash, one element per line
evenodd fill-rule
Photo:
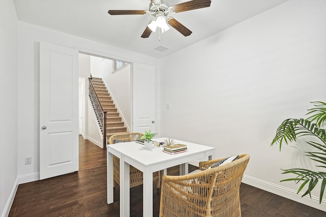
<path fill-rule="evenodd" d="M 252 185 L 258 189 L 262 189 L 264 191 L 288 198 L 290 200 L 294 200 L 298 203 L 305 204 L 307 206 L 314 207 L 316 209 L 320 209 L 322 211 L 326 211 L 326 200 L 322 200 L 321 204 L 319 204 L 319 199 L 315 196 L 312 196 L 311 199 L 309 196 L 301 197 L 302 194 L 296 194 L 296 191 L 285 188 L 281 185 L 274 184 L 268 181 L 264 181 L 258 178 L 254 178 L 248 175 L 243 175 L 242 182 Z M 299 187 L 299 186 L 298 186 Z"/>

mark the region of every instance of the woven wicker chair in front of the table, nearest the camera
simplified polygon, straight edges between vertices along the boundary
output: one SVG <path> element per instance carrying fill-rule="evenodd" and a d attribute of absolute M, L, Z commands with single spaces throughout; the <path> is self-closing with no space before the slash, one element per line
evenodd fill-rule
<path fill-rule="evenodd" d="M 162 177 L 159 216 L 241 216 L 239 187 L 249 162 L 241 154 L 231 163 L 210 168 L 222 159 L 200 162 L 200 172 Z"/>

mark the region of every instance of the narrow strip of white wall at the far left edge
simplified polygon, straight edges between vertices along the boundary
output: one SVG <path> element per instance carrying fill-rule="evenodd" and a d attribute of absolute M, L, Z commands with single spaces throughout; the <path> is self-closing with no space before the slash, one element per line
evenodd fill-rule
<path fill-rule="evenodd" d="M 0 76 L 0 215 L 7 216 L 18 183 L 17 16 L 12 0 L 0 1 Z"/>

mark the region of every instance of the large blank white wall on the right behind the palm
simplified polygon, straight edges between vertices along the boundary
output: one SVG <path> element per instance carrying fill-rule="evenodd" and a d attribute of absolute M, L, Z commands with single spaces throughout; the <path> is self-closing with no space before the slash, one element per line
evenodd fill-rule
<path fill-rule="evenodd" d="M 216 157 L 249 153 L 245 182 L 326 210 L 279 182 L 280 168 L 316 169 L 301 147 L 269 146 L 284 119 L 326 102 L 325 11 L 326 1 L 289 1 L 162 59 L 161 135 Z"/>

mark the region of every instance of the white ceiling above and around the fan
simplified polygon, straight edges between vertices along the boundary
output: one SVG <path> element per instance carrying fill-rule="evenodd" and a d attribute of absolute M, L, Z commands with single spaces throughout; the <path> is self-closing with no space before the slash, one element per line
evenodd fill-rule
<path fill-rule="evenodd" d="M 168 32 L 141 38 L 151 15 L 109 15 L 110 10 L 148 10 L 150 0 L 14 0 L 18 20 L 161 58 L 288 0 L 212 0 L 209 8 L 170 14 L 193 34 Z M 163 0 L 162 0 L 163 2 Z M 168 0 L 168 5 L 187 2 Z M 161 52 L 164 45 L 170 49 Z"/>

